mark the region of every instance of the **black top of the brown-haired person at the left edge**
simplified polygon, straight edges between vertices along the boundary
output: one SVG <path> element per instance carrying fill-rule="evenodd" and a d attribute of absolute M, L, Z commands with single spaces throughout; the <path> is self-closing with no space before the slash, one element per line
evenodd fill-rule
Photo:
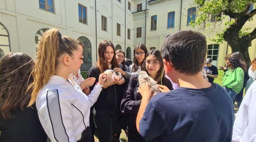
<path fill-rule="evenodd" d="M 46 142 L 47 135 L 39 121 L 36 105 L 12 110 L 12 118 L 0 118 L 0 142 Z"/>

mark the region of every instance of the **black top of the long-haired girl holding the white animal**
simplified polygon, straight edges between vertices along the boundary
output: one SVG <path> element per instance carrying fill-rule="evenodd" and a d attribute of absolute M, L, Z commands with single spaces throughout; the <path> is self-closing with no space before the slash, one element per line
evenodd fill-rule
<path fill-rule="evenodd" d="M 123 65 L 119 64 L 119 67 L 125 71 Z M 112 66 L 111 69 L 114 69 Z M 100 70 L 96 67 L 92 67 L 89 69 L 87 73 L 88 77 L 96 78 L 95 83 L 90 87 L 90 90 L 96 85 L 99 81 Z M 126 81 L 127 82 L 127 81 Z M 112 85 L 107 87 L 106 89 L 102 89 L 100 92 L 99 98 L 94 104 L 95 110 L 101 111 L 115 111 L 120 108 L 120 103 L 123 95 L 123 90 L 125 88 L 126 83 L 122 85 Z"/>

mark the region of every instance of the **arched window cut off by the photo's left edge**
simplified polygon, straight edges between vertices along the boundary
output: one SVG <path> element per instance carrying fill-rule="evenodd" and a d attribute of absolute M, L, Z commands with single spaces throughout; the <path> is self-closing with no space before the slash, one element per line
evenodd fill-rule
<path fill-rule="evenodd" d="M 10 52 L 9 34 L 7 29 L 0 23 L 0 58 Z"/>

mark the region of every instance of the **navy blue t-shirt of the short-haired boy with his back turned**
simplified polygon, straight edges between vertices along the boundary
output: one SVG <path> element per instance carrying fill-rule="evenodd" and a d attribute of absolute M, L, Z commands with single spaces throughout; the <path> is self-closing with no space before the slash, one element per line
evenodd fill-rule
<path fill-rule="evenodd" d="M 233 123 L 233 102 L 212 83 L 158 93 L 140 120 L 140 134 L 152 142 L 231 142 Z"/>

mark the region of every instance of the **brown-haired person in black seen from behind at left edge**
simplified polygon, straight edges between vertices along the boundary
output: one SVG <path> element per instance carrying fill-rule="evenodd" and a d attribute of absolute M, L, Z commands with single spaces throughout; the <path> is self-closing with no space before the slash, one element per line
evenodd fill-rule
<path fill-rule="evenodd" d="M 0 142 L 46 142 L 28 85 L 34 61 L 21 52 L 10 52 L 0 59 Z"/>

